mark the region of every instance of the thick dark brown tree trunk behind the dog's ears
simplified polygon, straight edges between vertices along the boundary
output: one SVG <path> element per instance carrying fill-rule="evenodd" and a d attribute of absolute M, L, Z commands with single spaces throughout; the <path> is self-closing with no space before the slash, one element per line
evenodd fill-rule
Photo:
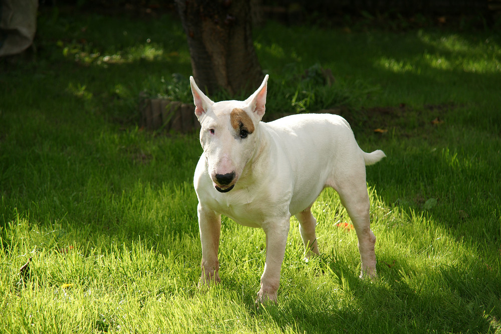
<path fill-rule="evenodd" d="M 193 77 L 208 94 L 254 92 L 263 71 L 254 50 L 249 0 L 176 0 Z"/>

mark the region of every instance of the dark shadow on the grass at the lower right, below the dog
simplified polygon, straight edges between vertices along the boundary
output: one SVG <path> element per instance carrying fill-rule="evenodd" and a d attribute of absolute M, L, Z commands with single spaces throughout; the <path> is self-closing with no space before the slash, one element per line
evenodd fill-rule
<path fill-rule="evenodd" d="M 256 310 L 254 304 L 248 303 L 249 311 L 268 313 L 284 331 L 291 326 L 300 332 L 318 333 L 326 330 L 494 332 L 498 329 L 495 314 L 490 312 L 500 298 L 499 283 L 491 273 L 468 277 L 467 272 L 458 268 L 435 268 L 428 279 L 440 282 L 440 287 L 430 291 L 423 286 L 424 282 L 417 289 L 411 286 L 416 283 L 415 276 L 401 259 L 391 268 L 382 268 L 380 281 L 376 282 L 359 279 L 350 274 L 348 266 L 341 268 L 340 263 L 325 264 L 342 277 L 340 286 L 352 292 L 354 302 L 346 305 L 339 300 L 324 300 L 321 305 L 308 305 L 306 300 L 284 301 L 279 293 L 280 302 L 287 303 L 285 307 L 272 305 Z M 305 290 L 314 289 L 306 287 Z M 484 293 L 471 292 L 479 290 Z M 378 303 L 382 300 L 383 303 Z M 444 311 L 449 314 L 444 316 Z"/>

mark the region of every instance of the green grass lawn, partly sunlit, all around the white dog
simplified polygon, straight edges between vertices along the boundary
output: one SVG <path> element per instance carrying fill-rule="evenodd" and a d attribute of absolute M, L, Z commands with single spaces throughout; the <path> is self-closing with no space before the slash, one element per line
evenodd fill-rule
<path fill-rule="evenodd" d="M 499 35 L 270 22 L 255 43 L 267 113 L 335 109 L 386 152 L 367 169 L 379 279 L 325 191 L 323 255 L 302 260 L 292 219 L 278 306 L 254 304 L 263 231 L 229 219 L 222 284 L 198 289 L 197 134 L 137 123 L 141 91 L 190 75 L 180 23 L 44 11 L 37 52 L 0 64 L 0 332 L 501 331 Z M 316 64 L 331 88 L 298 79 Z"/>

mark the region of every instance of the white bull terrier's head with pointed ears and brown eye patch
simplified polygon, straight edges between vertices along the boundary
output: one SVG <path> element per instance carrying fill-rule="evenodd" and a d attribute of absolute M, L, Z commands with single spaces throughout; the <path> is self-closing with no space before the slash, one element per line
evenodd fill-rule
<path fill-rule="evenodd" d="M 259 122 L 265 114 L 268 75 L 245 101 L 213 102 L 190 77 L 195 115 L 202 128 L 200 143 L 209 176 L 219 192 L 233 189 L 257 147 Z"/>

